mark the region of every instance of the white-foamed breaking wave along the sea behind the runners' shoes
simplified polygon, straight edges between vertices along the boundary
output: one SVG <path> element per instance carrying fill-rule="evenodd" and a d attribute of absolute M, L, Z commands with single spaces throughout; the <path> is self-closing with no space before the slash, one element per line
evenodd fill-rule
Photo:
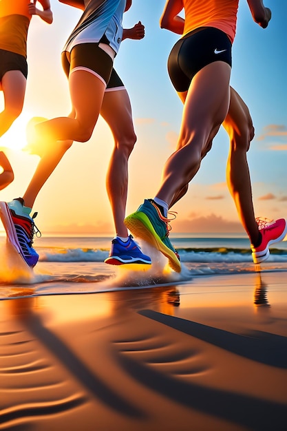
<path fill-rule="evenodd" d="M 109 251 L 103 249 L 49 248 L 39 249 L 40 262 L 103 262 Z M 252 262 L 251 250 L 242 248 L 184 248 L 178 249 L 181 262 L 196 263 L 249 263 Z M 270 249 L 268 262 L 287 262 L 286 249 Z"/>

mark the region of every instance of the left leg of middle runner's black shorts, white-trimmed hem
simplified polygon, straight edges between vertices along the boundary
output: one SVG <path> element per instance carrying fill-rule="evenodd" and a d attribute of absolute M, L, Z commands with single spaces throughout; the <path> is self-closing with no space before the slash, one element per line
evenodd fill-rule
<path fill-rule="evenodd" d="M 70 60 L 67 58 L 67 52 L 62 53 L 62 66 L 67 76 L 73 70 L 87 70 L 107 85 L 113 60 L 107 52 L 99 48 L 98 43 L 81 43 L 72 49 Z"/>

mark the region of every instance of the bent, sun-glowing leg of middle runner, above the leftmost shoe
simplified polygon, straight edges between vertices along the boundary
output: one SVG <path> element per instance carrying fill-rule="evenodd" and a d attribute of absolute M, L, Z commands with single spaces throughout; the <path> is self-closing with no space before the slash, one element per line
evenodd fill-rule
<path fill-rule="evenodd" d="M 76 118 L 61 117 L 36 125 L 36 133 L 47 149 L 23 196 L 25 206 L 32 208 L 39 191 L 72 144 L 72 140 L 85 142 L 94 130 L 105 85 L 89 72 L 78 70 L 70 74 L 70 93 Z M 43 138 L 42 138 L 43 139 Z M 62 141 L 62 142 L 59 142 Z"/>

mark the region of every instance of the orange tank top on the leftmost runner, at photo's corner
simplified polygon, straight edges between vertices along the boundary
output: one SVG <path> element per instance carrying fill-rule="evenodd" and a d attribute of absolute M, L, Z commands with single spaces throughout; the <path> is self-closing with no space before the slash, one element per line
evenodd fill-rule
<path fill-rule="evenodd" d="M 0 49 L 27 56 L 28 0 L 0 0 Z"/>

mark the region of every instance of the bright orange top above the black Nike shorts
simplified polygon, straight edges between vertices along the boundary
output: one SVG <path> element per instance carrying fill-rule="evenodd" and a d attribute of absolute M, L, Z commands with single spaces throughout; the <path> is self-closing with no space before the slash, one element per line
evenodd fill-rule
<path fill-rule="evenodd" d="M 200 27 L 215 27 L 226 33 L 233 43 L 239 0 L 182 0 L 184 33 Z"/>

